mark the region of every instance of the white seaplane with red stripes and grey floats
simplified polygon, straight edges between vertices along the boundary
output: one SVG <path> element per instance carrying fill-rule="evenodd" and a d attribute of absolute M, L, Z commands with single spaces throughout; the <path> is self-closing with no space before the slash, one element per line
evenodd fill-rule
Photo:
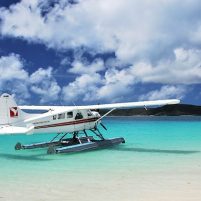
<path fill-rule="evenodd" d="M 101 121 L 115 109 L 178 103 L 178 99 L 169 99 L 87 106 L 18 106 L 12 95 L 4 93 L 0 96 L 0 135 L 55 133 L 47 142 L 18 142 L 16 150 L 47 148 L 48 154 L 94 150 L 125 143 L 123 137 L 105 138 L 99 129 L 102 126 L 107 130 Z M 108 112 L 101 116 L 100 109 Z"/>

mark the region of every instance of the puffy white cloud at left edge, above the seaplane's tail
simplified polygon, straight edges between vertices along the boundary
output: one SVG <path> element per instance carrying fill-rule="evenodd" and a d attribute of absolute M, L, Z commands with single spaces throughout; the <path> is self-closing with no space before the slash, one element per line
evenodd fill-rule
<path fill-rule="evenodd" d="M 58 100 L 60 86 L 52 75 L 53 69 L 39 68 L 29 75 L 19 55 L 10 54 L 0 57 L 0 90 L 14 94 L 18 103 L 25 103 L 31 92 L 39 95 L 40 102 Z"/>

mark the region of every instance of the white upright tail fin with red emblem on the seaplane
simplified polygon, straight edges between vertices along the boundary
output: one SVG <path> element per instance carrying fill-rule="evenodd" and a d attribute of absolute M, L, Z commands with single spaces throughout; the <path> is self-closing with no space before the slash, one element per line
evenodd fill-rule
<path fill-rule="evenodd" d="M 17 123 L 22 115 L 23 112 L 11 95 L 4 93 L 0 96 L 0 125 Z"/>

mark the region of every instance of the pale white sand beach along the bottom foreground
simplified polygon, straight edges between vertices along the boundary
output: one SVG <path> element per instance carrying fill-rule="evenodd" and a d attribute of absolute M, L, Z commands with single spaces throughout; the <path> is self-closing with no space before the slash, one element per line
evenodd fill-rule
<path fill-rule="evenodd" d="M 200 201 L 201 166 L 169 170 L 56 173 L 0 181 L 2 201 Z"/>

